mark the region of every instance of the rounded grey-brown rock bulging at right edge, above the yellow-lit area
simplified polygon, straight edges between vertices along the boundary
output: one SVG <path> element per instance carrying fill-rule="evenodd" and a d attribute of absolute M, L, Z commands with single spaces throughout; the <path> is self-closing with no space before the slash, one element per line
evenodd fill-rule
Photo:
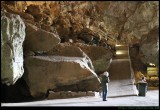
<path fill-rule="evenodd" d="M 152 36 L 152 37 L 151 37 Z M 144 64 L 159 65 L 159 28 L 154 28 L 146 35 L 140 45 L 141 60 Z"/>

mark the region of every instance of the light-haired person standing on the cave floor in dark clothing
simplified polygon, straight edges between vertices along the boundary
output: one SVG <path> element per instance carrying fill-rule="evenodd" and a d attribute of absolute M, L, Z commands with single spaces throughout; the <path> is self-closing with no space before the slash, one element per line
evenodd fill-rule
<path fill-rule="evenodd" d="M 102 99 L 103 101 L 107 101 L 107 92 L 108 92 L 108 83 L 110 82 L 109 80 L 109 73 L 106 71 L 102 75 L 102 81 L 101 81 L 101 86 L 102 86 Z"/>

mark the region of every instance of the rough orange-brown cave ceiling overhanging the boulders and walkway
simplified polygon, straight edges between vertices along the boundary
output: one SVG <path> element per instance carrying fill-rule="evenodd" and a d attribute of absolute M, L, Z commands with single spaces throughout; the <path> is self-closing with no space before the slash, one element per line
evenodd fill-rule
<path fill-rule="evenodd" d="M 159 28 L 158 1 L 3 1 L 1 3 L 5 4 L 2 8 L 7 11 L 13 13 L 16 11 L 22 15 L 21 12 L 28 18 L 31 15 L 32 22 L 42 29 L 50 32 L 57 30 L 61 41 L 65 42 L 73 39 L 73 42 L 88 43 L 93 36 L 100 36 L 107 39 L 108 43 L 115 44 L 117 40 L 134 45 L 140 44 L 151 30 Z M 86 35 L 83 32 L 86 28 L 92 30 L 94 34 Z M 78 36 L 83 39 L 77 39 Z"/>

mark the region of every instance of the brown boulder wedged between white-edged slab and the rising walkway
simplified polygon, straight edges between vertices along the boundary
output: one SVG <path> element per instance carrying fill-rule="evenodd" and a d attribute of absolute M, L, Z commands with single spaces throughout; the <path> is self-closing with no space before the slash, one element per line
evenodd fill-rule
<path fill-rule="evenodd" d="M 109 49 L 101 46 L 84 44 L 76 44 L 76 46 L 81 48 L 89 56 L 97 74 L 107 71 L 113 55 Z"/>

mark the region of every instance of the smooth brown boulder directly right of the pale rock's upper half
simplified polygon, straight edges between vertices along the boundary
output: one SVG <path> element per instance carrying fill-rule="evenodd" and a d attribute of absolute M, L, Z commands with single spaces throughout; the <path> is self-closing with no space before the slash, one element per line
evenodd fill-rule
<path fill-rule="evenodd" d="M 57 34 L 47 32 L 30 23 L 26 23 L 25 49 L 31 51 L 49 51 L 58 43 L 60 43 L 60 38 Z"/>

